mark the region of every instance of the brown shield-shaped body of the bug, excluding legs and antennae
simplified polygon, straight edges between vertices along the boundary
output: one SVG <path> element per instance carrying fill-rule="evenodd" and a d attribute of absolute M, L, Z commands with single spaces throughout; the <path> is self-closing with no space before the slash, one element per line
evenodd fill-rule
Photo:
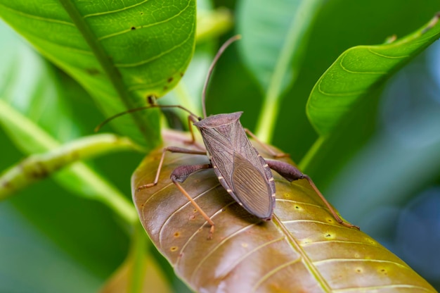
<path fill-rule="evenodd" d="M 270 219 L 275 206 L 273 175 L 240 123 L 242 112 L 209 116 L 194 123 L 221 185 L 254 216 Z"/>

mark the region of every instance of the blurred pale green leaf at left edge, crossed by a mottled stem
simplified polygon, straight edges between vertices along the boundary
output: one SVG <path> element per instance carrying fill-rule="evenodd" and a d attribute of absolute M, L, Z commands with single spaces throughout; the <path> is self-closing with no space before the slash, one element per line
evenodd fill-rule
<path fill-rule="evenodd" d="M 10 53 L 0 56 L 0 72 L 8 77 L 0 84 L 0 94 L 7 95 L 1 96 L 1 127 L 25 154 L 45 153 L 58 148 L 61 139 L 77 137 L 77 124 L 71 118 L 63 99 L 66 93 L 52 66 L 18 42 L 4 26 L 0 26 L 0 33 L 5 41 L 0 49 Z M 86 164 L 75 163 L 54 178 L 79 197 L 97 199 L 110 206 L 127 223 L 136 220 L 134 208 L 124 195 Z"/>

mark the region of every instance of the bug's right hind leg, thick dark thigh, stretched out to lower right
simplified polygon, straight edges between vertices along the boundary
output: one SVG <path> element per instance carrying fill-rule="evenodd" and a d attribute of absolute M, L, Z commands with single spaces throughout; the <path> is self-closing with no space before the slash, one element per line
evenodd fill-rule
<path fill-rule="evenodd" d="M 316 187 L 315 183 L 313 183 L 313 180 L 311 180 L 311 177 L 303 174 L 300 170 L 298 170 L 295 166 L 290 165 L 289 163 L 285 163 L 282 161 L 275 161 L 275 160 L 266 160 L 266 163 L 268 164 L 269 168 L 272 170 L 275 170 L 278 174 L 283 176 L 285 180 L 292 182 L 294 180 L 299 179 L 306 179 L 309 181 L 309 184 L 311 187 L 315 190 L 316 194 L 321 198 L 325 206 L 328 207 L 330 210 L 330 213 L 332 213 L 335 220 L 337 220 L 337 223 L 342 224 L 347 227 L 354 227 L 357 230 L 360 230 L 358 226 L 350 224 L 342 220 L 341 217 L 336 213 L 335 209 L 330 205 L 330 203 L 325 199 L 323 194 L 319 191 L 318 187 Z"/>

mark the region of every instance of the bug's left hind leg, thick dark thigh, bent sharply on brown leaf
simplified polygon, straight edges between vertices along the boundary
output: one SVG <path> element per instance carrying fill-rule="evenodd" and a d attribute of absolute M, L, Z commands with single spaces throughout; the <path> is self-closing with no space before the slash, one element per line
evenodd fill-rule
<path fill-rule="evenodd" d="M 200 208 L 200 206 L 194 201 L 194 199 L 186 192 L 185 189 L 179 184 L 179 182 L 183 182 L 186 178 L 194 173 L 195 171 L 202 169 L 212 168 L 212 164 L 202 164 L 202 165 L 188 165 L 188 166 L 179 166 L 173 170 L 171 174 L 171 180 L 176 185 L 176 187 L 180 190 L 181 193 L 190 201 L 191 204 L 195 207 L 195 209 L 202 215 L 205 220 L 211 225 L 211 229 L 209 230 L 208 239 L 212 239 L 212 234 L 214 233 L 214 222 L 209 218 L 209 216 L 205 213 L 205 211 Z"/>

